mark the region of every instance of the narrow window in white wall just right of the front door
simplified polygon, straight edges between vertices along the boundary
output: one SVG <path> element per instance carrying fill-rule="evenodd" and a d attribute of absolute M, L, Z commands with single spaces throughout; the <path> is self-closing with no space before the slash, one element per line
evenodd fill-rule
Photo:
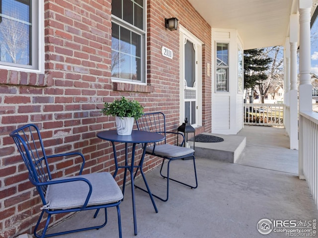
<path fill-rule="evenodd" d="M 217 43 L 216 90 L 229 91 L 229 44 Z"/>

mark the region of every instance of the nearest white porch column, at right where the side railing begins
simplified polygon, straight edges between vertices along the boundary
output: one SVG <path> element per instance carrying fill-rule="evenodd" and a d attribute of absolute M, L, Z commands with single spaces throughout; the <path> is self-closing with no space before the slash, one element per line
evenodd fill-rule
<path fill-rule="evenodd" d="M 312 84 L 310 81 L 311 71 L 311 52 L 310 52 L 310 20 L 312 0 L 299 0 L 299 23 L 300 23 L 300 38 L 299 38 L 299 111 L 312 112 Z M 303 138 L 302 127 L 299 128 L 299 159 L 298 159 L 298 176 L 304 179 L 304 162 L 303 162 Z"/>

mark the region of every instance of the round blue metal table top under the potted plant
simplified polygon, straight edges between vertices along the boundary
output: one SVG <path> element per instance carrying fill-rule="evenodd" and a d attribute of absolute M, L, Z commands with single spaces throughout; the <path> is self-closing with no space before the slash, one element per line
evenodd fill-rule
<path fill-rule="evenodd" d="M 117 130 L 105 130 L 97 133 L 97 137 L 103 140 L 125 143 L 148 143 L 164 139 L 164 135 L 144 130 L 133 130 L 131 135 L 118 135 Z"/>

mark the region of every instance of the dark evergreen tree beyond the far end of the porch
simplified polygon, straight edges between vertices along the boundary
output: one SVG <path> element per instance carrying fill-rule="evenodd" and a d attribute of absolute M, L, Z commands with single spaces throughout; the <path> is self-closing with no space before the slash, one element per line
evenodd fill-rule
<path fill-rule="evenodd" d="M 264 56 L 264 49 L 244 51 L 244 89 L 254 89 L 254 86 L 267 79 L 265 71 L 271 58 Z"/>

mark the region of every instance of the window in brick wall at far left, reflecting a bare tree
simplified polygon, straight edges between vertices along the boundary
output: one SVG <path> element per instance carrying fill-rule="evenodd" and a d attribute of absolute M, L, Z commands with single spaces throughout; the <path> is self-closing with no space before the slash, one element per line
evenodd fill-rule
<path fill-rule="evenodd" d="M 39 19 L 43 16 L 39 12 L 43 13 L 43 3 L 39 2 L 42 1 L 0 0 L 0 67 L 42 69 Z"/>

